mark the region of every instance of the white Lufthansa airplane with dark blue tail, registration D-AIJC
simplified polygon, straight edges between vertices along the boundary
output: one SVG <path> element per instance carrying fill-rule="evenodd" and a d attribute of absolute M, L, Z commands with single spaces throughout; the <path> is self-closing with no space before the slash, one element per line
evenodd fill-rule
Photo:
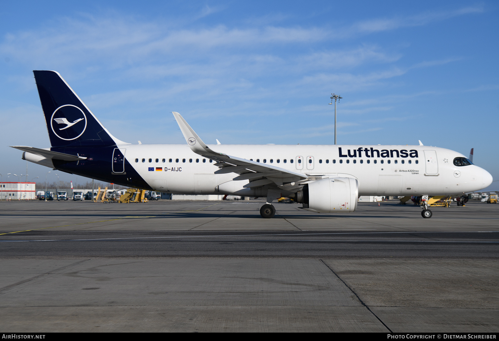
<path fill-rule="evenodd" d="M 360 195 L 451 195 L 480 190 L 492 175 L 463 154 L 419 145 L 207 145 L 177 112 L 185 145 L 115 138 L 56 71 L 33 71 L 50 148 L 11 146 L 54 170 L 158 192 L 288 197 L 312 212 L 350 214 Z M 71 122 L 71 123 L 70 123 Z M 60 124 L 67 127 L 60 128 Z M 421 215 L 432 217 L 426 201 Z"/>

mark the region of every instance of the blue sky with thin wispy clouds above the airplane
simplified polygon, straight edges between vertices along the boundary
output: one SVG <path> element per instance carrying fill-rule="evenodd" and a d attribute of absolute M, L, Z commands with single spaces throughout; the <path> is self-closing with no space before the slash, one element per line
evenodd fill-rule
<path fill-rule="evenodd" d="M 48 69 L 126 142 L 185 143 L 178 111 L 207 143 L 333 144 L 335 92 L 339 144 L 475 148 L 499 179 L 498 7 L 10 1 L 0 12 L 0 172 L 25 173 L 6 146 L 49 146 L 31 72 Z M 28 165 L 30 178 L 46 171 Z"/>

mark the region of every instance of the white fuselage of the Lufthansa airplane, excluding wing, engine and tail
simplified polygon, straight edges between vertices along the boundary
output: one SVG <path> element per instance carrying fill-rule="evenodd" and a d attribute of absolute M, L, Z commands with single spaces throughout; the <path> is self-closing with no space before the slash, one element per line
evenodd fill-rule
<path fill-rule="evenodd" d="M 123 149 L 126 160 L 144 180 L 158 191 L 179 194 L 264 195 L 261 191 L 244 188 L 249 180 L 233 181 L 239 174 L 214 174 L 219 170 L 214 165 L 215 162 L 210 163 L 209 159 L 195 154 L 187 145 L 126 144 L 118 147 Z M 315 178 L 354 177 L 358 179 L 359 195 L 450 195 L 476 191 L 492 182 L 492 175 L 478 166 L 457 167 L 453 164 L 455 158 L 464 158 L 464 155 L 430 146 L 209 147 L 219 153 L 302 172 Z"/>

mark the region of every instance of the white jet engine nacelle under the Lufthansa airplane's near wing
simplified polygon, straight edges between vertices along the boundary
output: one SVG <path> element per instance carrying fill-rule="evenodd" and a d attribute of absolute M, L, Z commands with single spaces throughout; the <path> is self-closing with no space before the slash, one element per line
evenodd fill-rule
<path fill-rule="evenodd" d="M 306 210 L 350 213 L 357 209 L 359 181 L 353 177 L 325 178 L 305 184 L 302 192 Z"/>

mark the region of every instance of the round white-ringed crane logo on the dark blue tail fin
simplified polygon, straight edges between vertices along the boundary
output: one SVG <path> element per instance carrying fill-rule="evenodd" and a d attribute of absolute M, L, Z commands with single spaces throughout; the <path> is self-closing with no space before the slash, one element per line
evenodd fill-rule
<path fill-rule="evenodd" d="M 75 105 L 62 105 L 52 114 L 50 127 L 59 139 L 75 140 L 85 132 L 87 117 L 83 110 Z"/>

